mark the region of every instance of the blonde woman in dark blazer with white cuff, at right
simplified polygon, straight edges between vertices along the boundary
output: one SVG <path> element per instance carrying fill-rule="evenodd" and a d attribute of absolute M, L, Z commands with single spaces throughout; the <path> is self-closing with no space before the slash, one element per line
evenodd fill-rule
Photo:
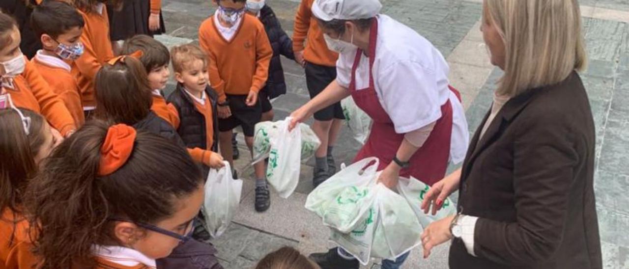
<path fill-rule="evenodd" d="M 421 236 L 453 239 L 450 268 L 602 268 L 594 202 L 594 122 L 577 70 L 586 53 L 576 0 L 485 0 L 482 32 L 504 70 L 462 170 L 433 186 L 459 213 Z"/>

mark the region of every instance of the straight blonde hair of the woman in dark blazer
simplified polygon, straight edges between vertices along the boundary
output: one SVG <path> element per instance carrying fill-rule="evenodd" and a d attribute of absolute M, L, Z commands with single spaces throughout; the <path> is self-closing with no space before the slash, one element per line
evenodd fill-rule
<path fill-rule="evenodd" d="M 557 84 L 587 65 L 577 0 L 485 0 L 483 17 L 504 41 L 498 94 Z"/>

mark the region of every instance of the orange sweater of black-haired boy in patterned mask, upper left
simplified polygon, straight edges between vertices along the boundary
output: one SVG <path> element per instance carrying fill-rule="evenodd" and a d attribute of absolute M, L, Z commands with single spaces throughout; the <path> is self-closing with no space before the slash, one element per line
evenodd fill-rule
<path fill-rule="evenodd" d="M 38 60 L 37 57 L 33 57 L 31 62 L 35 63 L 37 70 L 43 79 L 48 82 L 52 91 L 58 94 L 59 98 L 64 101 L 65 107 L 72 115 L 77 127 L 83 126 L 85 116 L 83 114 L 83 106 L 81 105 L 81 93 L 79 93 L 77 80 L 70 74 L 70 71 L 48 65 Z"/>

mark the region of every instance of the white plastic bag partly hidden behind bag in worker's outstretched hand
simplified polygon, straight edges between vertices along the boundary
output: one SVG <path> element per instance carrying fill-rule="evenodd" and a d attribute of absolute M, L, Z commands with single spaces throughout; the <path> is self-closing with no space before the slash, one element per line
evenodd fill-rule
<path fill-rule="evenodd" d="M 255 124 L 252 163 L 260 162 L 269 157 L 270 140 L 279 135 L 282 124 L 283 121 L 263 121 Z M 298 126 L 301 130 L 301 162 L 306 162 L 315 155 L 315 151 L 321 145 L 321 141 L 308 125 L 299 123 Z"/>

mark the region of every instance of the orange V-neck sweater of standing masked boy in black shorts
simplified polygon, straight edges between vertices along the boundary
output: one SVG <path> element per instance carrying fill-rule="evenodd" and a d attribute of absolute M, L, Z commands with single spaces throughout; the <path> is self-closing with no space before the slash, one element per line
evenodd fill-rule
<path fill-rule="evenodd" d="M 230 41 L 214 25 L 214 16 L 199 28 L 199 45 L 209 56 L 209 81 L 225 102 L 225 94 L 247 95 L 259 92 L 269 77 L 273 49 L 259 19 L 245 14 Z"/>

